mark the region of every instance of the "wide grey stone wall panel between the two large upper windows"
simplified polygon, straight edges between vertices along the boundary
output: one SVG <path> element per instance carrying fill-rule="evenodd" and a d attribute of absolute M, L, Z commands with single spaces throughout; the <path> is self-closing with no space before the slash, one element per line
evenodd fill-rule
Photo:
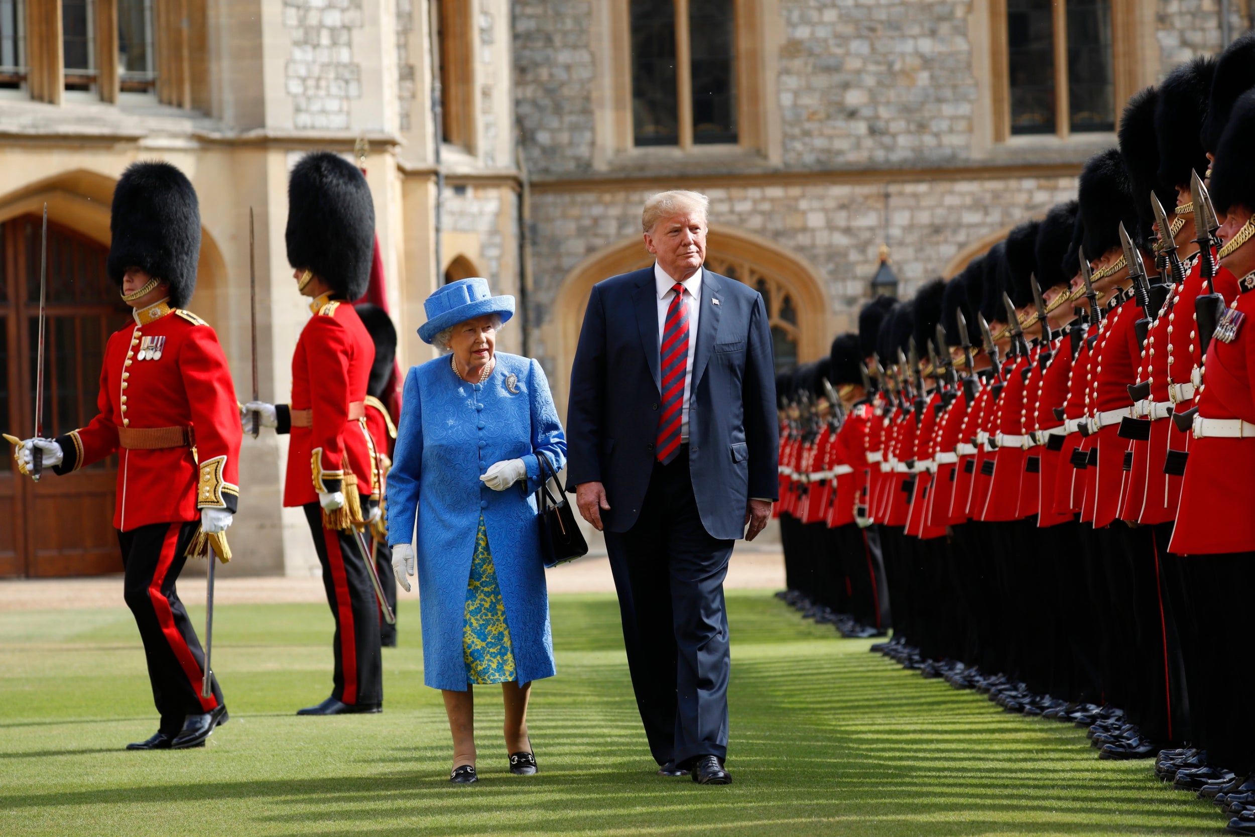
<path fill-rule="evenodd" d="M 932 166 L 968 156 L 969 4 L 784 0 L 786 167 Z"/>

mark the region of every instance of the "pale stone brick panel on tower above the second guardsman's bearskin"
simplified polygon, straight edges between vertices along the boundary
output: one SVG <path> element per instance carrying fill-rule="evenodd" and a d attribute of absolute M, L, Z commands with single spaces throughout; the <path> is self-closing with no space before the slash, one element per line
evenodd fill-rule
<path fill-rule="evenodd" d="M 353 30 L 361 24 L 361 0 L 284 0 L 295 128 L 349 128 L 349 102 L 361 97 L 361 65 L 353 60 Z"/>

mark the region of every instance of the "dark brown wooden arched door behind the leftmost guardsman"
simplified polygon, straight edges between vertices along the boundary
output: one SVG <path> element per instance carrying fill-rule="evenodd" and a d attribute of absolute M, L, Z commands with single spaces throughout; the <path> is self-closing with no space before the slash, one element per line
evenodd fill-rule
<path fill-rule="evenodd" d="M 39 225 L 21 216 L 0 225 L 0 422 L 34 432 L 39 328 Z M 100 365 L 109 335 L 131 309 L 105 275 L 108 247 L 48 225 L 48 324 L 44 435 L 87 424 L 97 414 Z M 117 457 L 80 472 L 19 477 L 0 468 L 0 576 L 120 572 L 113 531 Z"/>

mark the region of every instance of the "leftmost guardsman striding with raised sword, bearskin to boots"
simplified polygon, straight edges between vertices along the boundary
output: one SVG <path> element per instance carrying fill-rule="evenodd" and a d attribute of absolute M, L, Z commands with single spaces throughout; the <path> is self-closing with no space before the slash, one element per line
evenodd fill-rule
<path fill-rule="evenodd" d="M 125 572 L 123 595 L 139 627 L 161 714 L 157 732 L 127 749 L 203 747 L 227 722 L 217 679 L 202 698 L 205 654 L 174 582 L 193 546 L 222 533 L 240 498 L 240 419 L 217 335 L 183 310 L 196 290 L 201 213 L 196 191 L 168 163 L 134 163 L 113 192 L 107 270 L 133 323 L 114 333 L 100 370 L 99 414 L 55 439 L 26 439 L 58 474 L 118 454 L 113 526 Z"/>

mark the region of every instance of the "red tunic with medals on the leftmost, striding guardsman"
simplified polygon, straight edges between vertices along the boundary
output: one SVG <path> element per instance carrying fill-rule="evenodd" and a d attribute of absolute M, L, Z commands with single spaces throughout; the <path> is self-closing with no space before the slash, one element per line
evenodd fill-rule
<path fill-rule="evenodd" d="M 54 471 L 69 473 L 117 452 L 113 527 L 123 532 L 195 521 L 201 508 L 235 512 L 242 432 L 217 335 L 205 320 L 164 301 L 137 309 L 133 317 L 134 325 L 115 331 L 105 346 L 99 414 L 56 439 L 65 457 Z M 147 428 L 190 428 L 196 447 L 119 444 L 119 430 Z"/>

